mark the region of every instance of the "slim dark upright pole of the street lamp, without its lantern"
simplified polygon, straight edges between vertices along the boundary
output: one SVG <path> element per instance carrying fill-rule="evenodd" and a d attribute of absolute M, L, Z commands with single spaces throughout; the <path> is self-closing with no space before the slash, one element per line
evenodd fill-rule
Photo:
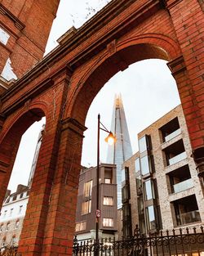
<path fill-rule="evenodd" d="M 96 169 L 96 210 L 99 209 L 100 195 L 100 114 L 98 115 L 98 137 L 97 137 L 97 169 Z M 99 217 L 95 216 L 95 240 L 99 240 Z"/>

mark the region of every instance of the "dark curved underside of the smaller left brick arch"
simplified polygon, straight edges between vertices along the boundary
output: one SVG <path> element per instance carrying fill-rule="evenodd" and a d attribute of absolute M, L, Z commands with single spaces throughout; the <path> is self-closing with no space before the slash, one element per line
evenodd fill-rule
<path fill-rule="evenodd" d="M 3 131 L 0 141 L 0 204 L 7 191 L 7 185 L 11 177 L 13 164 L 20 145 L 20 140 L 24 132 L 36 121 L 46 116 L 40 108 L 31 108 L 21 113 L 18 118 L 9 124 L 6 131 Z"/>

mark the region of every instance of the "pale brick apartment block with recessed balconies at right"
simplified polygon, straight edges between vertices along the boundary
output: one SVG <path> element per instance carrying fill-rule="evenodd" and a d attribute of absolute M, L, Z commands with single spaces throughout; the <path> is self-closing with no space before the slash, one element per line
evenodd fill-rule
<path fill-rule="evenodd" d="M 123 236 L 136 223 L 143 233 L 203 224 L 202 180 L 181 106 L 145 128 L 138 140 L 139 152 L 123 164 Z"/>

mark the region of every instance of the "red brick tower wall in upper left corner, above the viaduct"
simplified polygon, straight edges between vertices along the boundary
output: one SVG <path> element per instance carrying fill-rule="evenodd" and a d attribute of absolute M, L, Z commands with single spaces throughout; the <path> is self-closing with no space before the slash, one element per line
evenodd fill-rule
<path fill-rule="evenodd" d="M 59 2 L 1 1 L 0 28 L 10 38 L 6 45 L 0 43 L 0 74 L 8 57 L 18 78 L 42 59 Z"/>

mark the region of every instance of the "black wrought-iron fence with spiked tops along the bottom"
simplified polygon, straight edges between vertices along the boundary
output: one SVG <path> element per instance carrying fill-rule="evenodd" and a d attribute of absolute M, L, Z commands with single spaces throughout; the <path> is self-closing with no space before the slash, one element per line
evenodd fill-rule
<path fill-rule="evenodd" d="M 204 256 L 203 227 L 191 230 L 140 234 L 138 227 L 128 240 L 73 241 L 73 256 Z"/>

